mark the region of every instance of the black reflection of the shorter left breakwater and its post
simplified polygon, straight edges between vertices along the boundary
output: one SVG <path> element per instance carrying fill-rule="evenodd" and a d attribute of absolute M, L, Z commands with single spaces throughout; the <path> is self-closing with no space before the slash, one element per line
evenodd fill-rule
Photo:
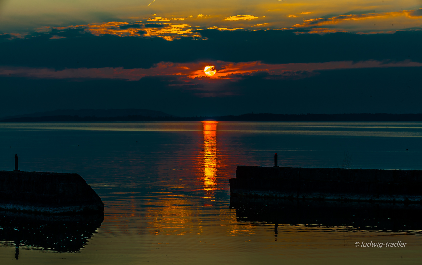
<path fill-rule="evenodd" d="M 34 249 L 76 252 L 103 222 L 103 215 L 45 216 L 0 211 L 0 241 Z"/>

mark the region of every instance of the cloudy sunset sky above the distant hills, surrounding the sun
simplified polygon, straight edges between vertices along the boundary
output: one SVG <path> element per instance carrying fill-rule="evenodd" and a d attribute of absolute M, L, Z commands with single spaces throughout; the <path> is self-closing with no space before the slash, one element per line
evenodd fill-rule
<path fill-rule="evenodd" d="M 422 113 L 420 43 L 422 0 L 0 0 L 0 116 Z"/>

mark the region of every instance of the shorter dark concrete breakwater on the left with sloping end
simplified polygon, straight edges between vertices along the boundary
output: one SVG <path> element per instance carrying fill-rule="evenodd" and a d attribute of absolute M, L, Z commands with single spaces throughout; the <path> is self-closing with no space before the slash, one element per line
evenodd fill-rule
<path fill-rule="evenodd" d="M 0 209 L 42 214 L 102 214 L 104 204 L 78 174 L 0 171 Z"/>

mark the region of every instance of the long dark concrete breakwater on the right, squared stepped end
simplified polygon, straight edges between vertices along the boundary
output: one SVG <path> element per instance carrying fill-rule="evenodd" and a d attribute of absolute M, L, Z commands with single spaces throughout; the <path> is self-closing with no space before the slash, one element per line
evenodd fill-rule
<path fill-rule="evenodd" d="M 422 170 L 239 166 L 232 196 L 422 203 Z"/>

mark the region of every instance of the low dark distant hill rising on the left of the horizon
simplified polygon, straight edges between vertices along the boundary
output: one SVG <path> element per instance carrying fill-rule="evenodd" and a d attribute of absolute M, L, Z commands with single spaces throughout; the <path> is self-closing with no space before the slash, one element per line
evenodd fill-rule
<path fill-rule="evenodd" d="M 31 114 L 22 114 L 15 116 L 7 116 L 0 118 L 3 119 L 16 119 L 22 117 L 45 117 L 45 116 L 79 116 L 79 117 L 124 117 L 124 116 L 146 116 L 146 117 L 160 117 L 160 116 L 172 116 L 162 111 L 152 111 L 149 109 L 138 109 L 138 108 L 123 108 L 123 109 L 58 109 L 55 111 L 37 112 Z"/>

